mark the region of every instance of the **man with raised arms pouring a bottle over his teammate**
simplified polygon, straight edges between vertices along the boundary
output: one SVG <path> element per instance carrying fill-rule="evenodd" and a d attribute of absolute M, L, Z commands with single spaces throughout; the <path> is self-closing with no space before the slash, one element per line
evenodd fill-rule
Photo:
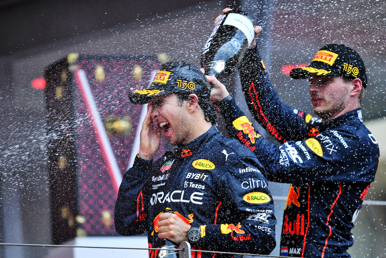
<path fill-rule="evenodd" d="M 249 48 L 238 70 L 249 110 L 280 145 L 265 140 L 225 86 L 208 76 L 215 85 L 211 97 L 230 135 L 253 150 L 268 180 L 291 183 L 280 255 L 350 257 L 350 231 L 379 162 L 378 144 L 360 109 L 367 85 L 362 58 L 345 45 L 327 44 L 310 65 L 291 71 L 293 79 L 309 80 L 319 118 L 280 101 L 256 46 Z"/>

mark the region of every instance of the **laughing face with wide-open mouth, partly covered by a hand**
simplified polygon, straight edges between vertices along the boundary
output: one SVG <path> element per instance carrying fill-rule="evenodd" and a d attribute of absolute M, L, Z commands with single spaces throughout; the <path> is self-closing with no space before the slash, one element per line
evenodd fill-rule
<path fill-rule="evenodd" d="M 190 141 L 191 131 L 187 129 L 188 111 L 185 101 L 178 102 L 174 94 L 152 98 L 152 119 L 161 126 L 163 135 L 171 145 L 186 144 Z"/>

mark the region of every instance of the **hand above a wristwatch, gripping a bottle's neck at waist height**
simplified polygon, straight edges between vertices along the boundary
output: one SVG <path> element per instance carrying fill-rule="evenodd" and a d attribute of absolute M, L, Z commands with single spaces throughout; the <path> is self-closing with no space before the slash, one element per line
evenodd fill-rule
<path fill-rule="evenodd" d="M 186 233 L 188 233 L 190 225 L 186 224 L 181 218 L 173 213 L 162 213 L 158 220 L 158 237 L 167 238 L 174 243 L 188 241 Z"/>

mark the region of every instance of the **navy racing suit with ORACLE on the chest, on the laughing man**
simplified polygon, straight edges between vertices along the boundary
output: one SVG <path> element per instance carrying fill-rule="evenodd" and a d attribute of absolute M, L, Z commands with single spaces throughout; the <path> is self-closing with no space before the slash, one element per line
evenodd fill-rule
<path fill-rule="evenodd" d="M 157 222 L 166 207 L 200 228 L 201 239 L 192 250 L 269 254 L 276 246 L 264 168 L 216 126 L 153 164 L 137 155 L 119 188 L 115 229 L 125 236 L 147 231 L 149 248 L 160 248 Z M 149 257 L 156 258 L 157 251 L 149 251 Z M 192 252 L 192 257 L 232 255 Z"/>

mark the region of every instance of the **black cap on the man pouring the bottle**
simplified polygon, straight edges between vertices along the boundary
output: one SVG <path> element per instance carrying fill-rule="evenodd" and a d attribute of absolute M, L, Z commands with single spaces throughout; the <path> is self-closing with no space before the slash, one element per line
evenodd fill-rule
<path fill-rule="evenodd" d="M 327 44 L 315 55 L 309 66 L 296 67 L 290 73 L 293 79 L 307 79 L 310 76 L 339 76 L 347 79 L 359 78 L 366 88 L 367 76 L 361 56 L 345 45 Z"/>

